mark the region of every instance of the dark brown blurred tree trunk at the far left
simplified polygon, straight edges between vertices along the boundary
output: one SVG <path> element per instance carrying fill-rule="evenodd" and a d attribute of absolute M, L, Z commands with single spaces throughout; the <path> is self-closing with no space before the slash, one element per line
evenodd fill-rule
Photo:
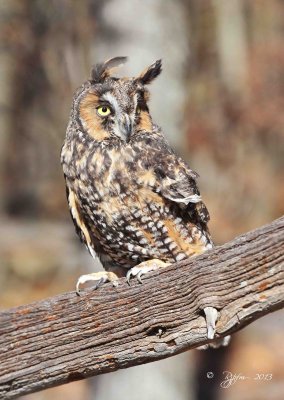
<path fill-rule="evenodd" d="M 15 1 L 17 13 L 10 15 L 7 24 L 14 29 L 15 37 L 9 45 L 13 52 L 12 104 L 9 123 L 9 140 L 5 159 L 6 204 L 12 215 L 35 214 L 38 206 L 34 187 L 43 156 L 40 140 L 44 126 L 38 124 L 38 135 L 31 126 L 31 112 L 39 121 L 41 109 L 48 96 L 49 86 L 43 70 L 41 46 L 46 32 L 46 20 L 30 2 Z M 39 147 L 31 150 L 30 144 L 38 141 Z M 44 138 L 42 143 L 44 143 Z M 36 165 L 38 164 L 38 169 Z M 37 188 L 37 187 L 36 187 Z"/>

